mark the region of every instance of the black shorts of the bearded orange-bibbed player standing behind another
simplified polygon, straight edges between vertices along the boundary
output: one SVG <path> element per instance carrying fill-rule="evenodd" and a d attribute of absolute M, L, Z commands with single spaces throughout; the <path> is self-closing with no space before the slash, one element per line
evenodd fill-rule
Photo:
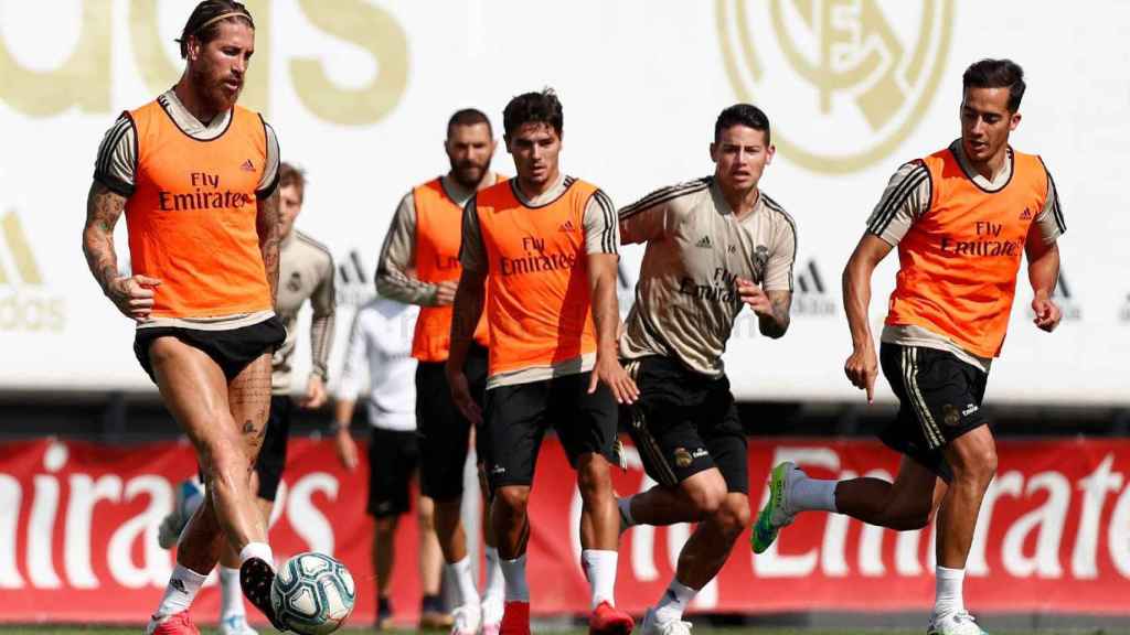
<path fill-rule="evenodd" d="M 447 374 L 442 362 L 416 366 L 416 426 L 420 433 L 420 492 L 436 501 L 463 495 L 463 464 L 471 423 L 451 400 Z M 487 389 L 487 349 L 472 345 L 463 366 L 471 397 L 479 408 Z M 485 462 L 485 435 L 475 435 L 478 462 Z"/>

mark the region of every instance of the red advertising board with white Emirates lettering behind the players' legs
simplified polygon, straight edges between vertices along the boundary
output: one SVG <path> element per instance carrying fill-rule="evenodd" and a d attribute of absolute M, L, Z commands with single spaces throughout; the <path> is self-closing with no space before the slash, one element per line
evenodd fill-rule
<path fill-rule="evenodd" d="M 1124 614 L 1130 597 L 1130 442 L 1006 441 L 985 498 L 965 583 L 974 611 Z M 365 453 L 362 453 L 364 458 Z M 628 447 L 614 469 L 620 494 L 650 486 Z M 791 459 L 812 476 L 889 478 L 898 458 L 869 441 L 774 440 L 749 446 L 751 506 Z M 173 564 L 157 525 L 195 463 L 183 443 L 115 446 L 66 441 L 0 445 L 0 621 L 138 623 L 156 607 Z M 345 471 L 328 442 L 294 440 L 271 543 L 278 558 L 334 555 L 358 583 L 355 624 L 371 624 L 375 585 L 367 466 Z M 536 614 L 584 612 L 580 498 L 559 444 L 547 440 L 530 505 L 529 579 Z M 620 543 L 618 603 L 642 612 L 667 586 L 687 525 L 634 528 Z M 693 610 L 925 610 L 933 590 L 933 531 L 893 532 L 808 513 L 756 558 L 742 537 Z M 393 603 L 419 601 L 416 528 L 403 519 Z M 193 608 L 215 619 L 218 589 Z"/>

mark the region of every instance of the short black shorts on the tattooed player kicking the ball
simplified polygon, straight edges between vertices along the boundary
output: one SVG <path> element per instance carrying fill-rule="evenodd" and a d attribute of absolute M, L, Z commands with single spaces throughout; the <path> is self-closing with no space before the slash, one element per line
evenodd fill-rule
<path fill-rule="evenodd" d="M 286 327 L 275 315 L 257 324 L 227 331 L 205 331 L 181 327 L 138 329 L 133 336 L 133 354 L 154 382 L 157 381 L 157 377 L 153 374 L 153 364 L 149 360 L 149 345 L 157 338 L 169 336 L 207 353 L 208 357 L 211 357 L 224 371 L 227 381 L 232 381 L 259 356 L 264 353 L 275 353 L 275 349 L 282 346 L 286 340 Z"/>

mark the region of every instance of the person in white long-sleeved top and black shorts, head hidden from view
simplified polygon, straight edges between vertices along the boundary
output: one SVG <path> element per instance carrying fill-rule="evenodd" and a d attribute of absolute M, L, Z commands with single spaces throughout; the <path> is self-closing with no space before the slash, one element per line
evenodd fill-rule
<path fill-rule="evenodd" d="M 376 627 L 389 626 L 397 527 L 411 508 L 409 485 L 419 471 L 419 435 L 416 420 L 416 359 L 411 356 L 411 329 L 419 308 L 377 297 L 357 310 L 334 408 L 334 443 L 338 458 L 349 470 L 357 466 L 357 447 L 349 435 L 357 394 L 367 369 L 367 418 L 373 429 L 368 447 L 368 513 L 375 521 L 373 571 L 376 572 Z M 449 626 L 440 601 L 442 557 L 434 530 L 434 505 L 421 495 L 416 499 L 419 529 L 419 571 L 423 586 L 420 628 Z"/>

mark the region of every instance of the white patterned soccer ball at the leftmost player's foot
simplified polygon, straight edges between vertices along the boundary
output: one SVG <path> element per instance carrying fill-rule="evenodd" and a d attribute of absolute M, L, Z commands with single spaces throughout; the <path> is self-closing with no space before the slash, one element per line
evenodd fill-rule
<path fill-rule="evenodd" d="M 333 633 L 353 612 L 356 588 L 346 565 L 324 554 L 298 554 L 275 574 L 271 607 L 290 630 Z"/>

